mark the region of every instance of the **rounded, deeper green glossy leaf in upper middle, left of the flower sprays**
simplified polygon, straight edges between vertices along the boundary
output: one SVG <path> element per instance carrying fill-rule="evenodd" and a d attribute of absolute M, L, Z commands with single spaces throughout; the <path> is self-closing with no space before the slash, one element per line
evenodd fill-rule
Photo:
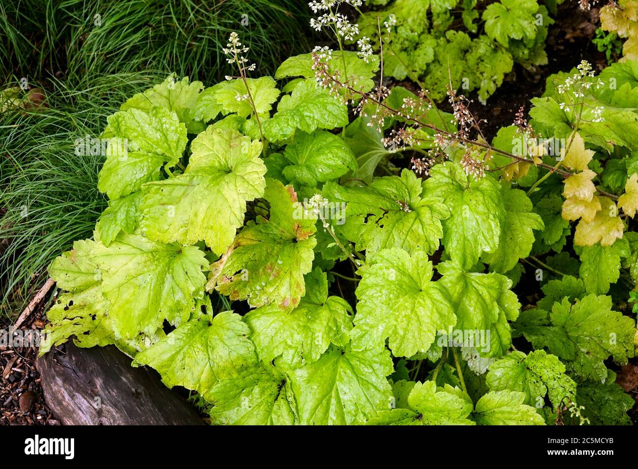
<path fill-rule="evenodd" d="M 283 156 L 290 162 L 283 175 L 293 184 L 315 187 L 319 182 L 332 181 L 357 169 L 355 156 L 338 137 L 325 130 L 297 133 Z"/>

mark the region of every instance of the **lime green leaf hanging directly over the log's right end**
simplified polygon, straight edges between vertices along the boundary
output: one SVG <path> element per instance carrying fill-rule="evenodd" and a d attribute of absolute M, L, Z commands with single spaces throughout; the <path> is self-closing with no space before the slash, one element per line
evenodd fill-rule
<path fill-rule="evenodd" d="M 212 321 L 186 322 L 135 356 L 135 365 L 156 369 L 168 387 L 183 386 L 209 397 L 221 378 L 237 376 L 256 364 L 255 346 L 246 338 L 248 326 L 230 311 Z"/>

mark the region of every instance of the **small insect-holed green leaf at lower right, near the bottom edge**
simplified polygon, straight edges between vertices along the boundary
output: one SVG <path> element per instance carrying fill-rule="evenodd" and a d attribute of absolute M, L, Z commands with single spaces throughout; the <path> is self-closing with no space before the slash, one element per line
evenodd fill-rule
<path fill-rule="evenodd" d="M 574 401 L 576 383 L 565 375 L 565 365 L 558 357 L 536 350 L 525 355 L 512 352 L 489 366 L 487 386 L 490 391 L 524 392 L 524 403 L 536 408 L 544 406 L 545 395 L 558 409 L 569 398 Z M 563 401 L 565 399 L 565 401 Z"/>

